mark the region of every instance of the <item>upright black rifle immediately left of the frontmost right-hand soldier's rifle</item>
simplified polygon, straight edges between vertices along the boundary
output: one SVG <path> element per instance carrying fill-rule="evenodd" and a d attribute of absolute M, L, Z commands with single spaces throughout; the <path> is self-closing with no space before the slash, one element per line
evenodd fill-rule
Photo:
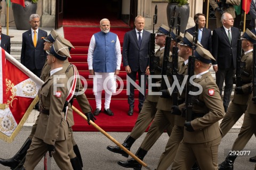
<path fill-rule="evenodd" d="M 178 21 L 176 25 L 176 32 L 175 32 L 175 46 L 172 48 L 172 76 L 177 76 L 179 74 L 178 69 L 178 58 L 179 58 L 179 47 L 178 47 L 178 36 L 180 35 L 180 12 L 178 15 Z M 172 78 L 173 84 L 174 78 Z M 177 86 L 174 87 L 172 92 L 172 104 L 174 106 L 178 106 L 178 88 Z"/>

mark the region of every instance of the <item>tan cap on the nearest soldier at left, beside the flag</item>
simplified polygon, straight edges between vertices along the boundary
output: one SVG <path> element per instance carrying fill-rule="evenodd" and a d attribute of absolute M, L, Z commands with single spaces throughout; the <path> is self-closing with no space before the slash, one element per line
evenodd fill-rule
<path fill-rule="evenodd" d="M 60 43 L 59 40 L 55 40 L 50 50 L 47 50 L 46 53 L 53 55 L 61 61 L 65 61 L 67 57 L 71 58 L 68 47 Z"/>

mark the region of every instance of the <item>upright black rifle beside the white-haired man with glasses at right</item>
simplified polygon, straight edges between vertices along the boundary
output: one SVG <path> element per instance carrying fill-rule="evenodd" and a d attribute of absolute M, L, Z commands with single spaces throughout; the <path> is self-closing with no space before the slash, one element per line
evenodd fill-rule
<path fill-rule="evenodd" d="M 241 32 L 242 32 L 242 22 L 240 22 L 240 29 L 239 29 L 239 37 L 237 40 L 237 57 L 236 57 L 236 87 L 243 86 L 243 80 L 241 78 L 243 68 L 245 66 L 245 62 L 242 62 L 242 39 L 241 39 Z"/>

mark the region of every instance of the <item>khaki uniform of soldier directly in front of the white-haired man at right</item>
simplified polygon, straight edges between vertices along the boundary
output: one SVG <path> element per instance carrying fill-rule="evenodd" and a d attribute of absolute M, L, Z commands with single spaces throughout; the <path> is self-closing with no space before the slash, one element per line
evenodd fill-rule
<path fill-rule="evenodd" d="M 234 93 L 234 99 L 228 107 L 228 111 L 225 114 L 221 124 L 220 129 L 223 133 L 222 138 L 228 133 L 228 131 L 233 127 L 233 125 L 238 121 L 238 119 L 244 114 L 247 107 L 247 101 L 250 97 L 248 92 L 250 81 L 252 81 L 252 52 L 249 52 L 242 56 L 242 62 L 245 62 L 245 67 L 243 71 L 249 73 L 249 77 L 241 75 L 242 80 L 245 82 L 242 86 L 244 94 Z"/>

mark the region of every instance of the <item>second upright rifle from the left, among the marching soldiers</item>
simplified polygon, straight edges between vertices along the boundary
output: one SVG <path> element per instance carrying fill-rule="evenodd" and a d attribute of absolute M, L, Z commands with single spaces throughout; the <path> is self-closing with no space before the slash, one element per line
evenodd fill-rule
<path fill-rule="evenodd" d="M 167 78 L 167 63 L 169 62 L 169 56 L 170 56 L 170 48 L 171 48 L 171 42 L 172 42 L 172 37 L 171 37 L 171 31 L 172 31 L 172 27 L 174 25 L 175 22 L 175 10 L 173 10 L 173 16 L 171 17 L 171 24 L 169 25 L 170 30 L 169 30 L 169 35 L 166 36 L 165 38 L 165 47 L 164 47 L 164 58 L 163 58 L 163 63 L 162 63 L 162 80 L 161 80 L 161 90 L 165 90 L 167 89 L 167 85 L 165 82 L 164 77 Z"/>

